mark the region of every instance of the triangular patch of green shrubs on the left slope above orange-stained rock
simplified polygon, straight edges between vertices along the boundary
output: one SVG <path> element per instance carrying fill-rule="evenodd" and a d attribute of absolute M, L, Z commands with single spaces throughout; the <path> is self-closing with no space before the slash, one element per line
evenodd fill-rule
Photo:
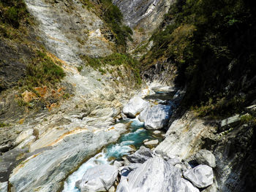
<path fill-rule="evenodd" d="M 31 63 L 27 66 L 26 77 L 20 81 L 20 85 L 29 90 L 40 85 L 54 85 L 59 82 L 65 73 L 53 60 L 42 51 L 37 51 Z"/>

